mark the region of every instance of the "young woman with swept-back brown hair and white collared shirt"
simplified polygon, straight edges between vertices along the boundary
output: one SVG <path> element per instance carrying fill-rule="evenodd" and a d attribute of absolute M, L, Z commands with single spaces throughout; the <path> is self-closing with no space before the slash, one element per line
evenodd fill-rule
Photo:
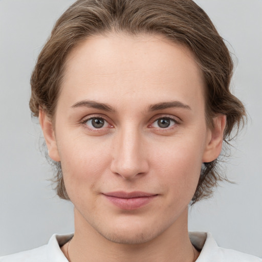
<path fill-rule="evenodd" d="M 73 4 L 38 57 L 30 108 L 75 233 L 0 261 L 261 261 L 187 229 L 246 115 L 232 67 L 192 1 Z"/>

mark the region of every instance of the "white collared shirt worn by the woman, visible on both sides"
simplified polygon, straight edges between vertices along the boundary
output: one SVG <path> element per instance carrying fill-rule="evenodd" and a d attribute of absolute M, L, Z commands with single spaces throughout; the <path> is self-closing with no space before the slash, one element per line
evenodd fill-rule
<path fill-rule="evenodd" d="M 54 234 L 47 245 L 13 255 L 0 257 L 0 262 L 68 262 L 60 247 L 69 241 L 73 234 Z M 189 232 L 191 243 L 201 249 L 196 262 L 262 262 L 261 258 L 235 250 L 217 246 L 210 233 Z"/>

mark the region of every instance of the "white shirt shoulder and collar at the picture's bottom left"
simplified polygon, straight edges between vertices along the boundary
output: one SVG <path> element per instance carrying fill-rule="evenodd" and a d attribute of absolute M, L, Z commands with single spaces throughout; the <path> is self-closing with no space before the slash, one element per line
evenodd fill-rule
<path fill-rule="evenodd" d="M 0 262 L 68 262 L 60 246 L 65 244 L 72 234 L 54 234 L 45 246 L 0 257 Z"/>

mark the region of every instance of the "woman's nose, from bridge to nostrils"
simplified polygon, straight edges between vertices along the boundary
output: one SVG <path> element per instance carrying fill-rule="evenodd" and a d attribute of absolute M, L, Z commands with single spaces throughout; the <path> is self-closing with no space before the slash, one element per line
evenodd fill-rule
<path fill-rule="evenodd" d="M 146 147 L 138 128 L 126 127 L 114 139 L 111 171 L 126 180 L 148 172 Z"/>

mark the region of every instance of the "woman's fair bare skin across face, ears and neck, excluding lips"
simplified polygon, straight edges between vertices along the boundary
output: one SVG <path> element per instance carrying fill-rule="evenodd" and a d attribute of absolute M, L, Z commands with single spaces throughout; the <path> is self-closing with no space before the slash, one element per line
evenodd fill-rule
<path fill-rule="evenodd" d="M 55 121 L 39 114 L 75 206 L 71 261 L 197 259 L 188 204 L 202 163 L 221 152 L 226 121 L 206 125 L 204 86 L 191 52 L 162 36 L 94 36 L 71 51 Z M 155 197 L 125 210 L 105 197 L 114 191 Z M 68 244 L 61 249 L 67 256 Z"/>

